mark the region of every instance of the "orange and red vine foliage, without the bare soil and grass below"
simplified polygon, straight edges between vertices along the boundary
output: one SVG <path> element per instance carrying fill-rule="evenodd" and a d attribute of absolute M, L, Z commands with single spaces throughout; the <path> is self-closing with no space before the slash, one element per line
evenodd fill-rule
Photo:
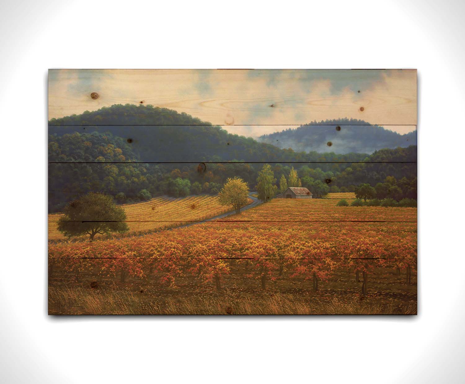
<path fill-rule="evenodd" d="M 334 219 L 332 213 L 339 216 Z M 318 220 L 322 216 L 326 219 Z M 340 221 L 342 217 L 347 221 Z M 417 265 L 415 218 L 416 208 L 353 210 L 334 207 L 332 201 L 276 199 L 226 220 L 93 243 L 51 243 L 49 265 L 60 265 L 76 278 L 84 270 L 96 270 L 120 275 L 122 281 L 155 271 L 161 284 L 171 286 L 189 274 L 200 284 L 219 288 L 238 262 L 246 277 L 264 289 L 283 272 L 313 280 L 315 288 L 337 269 L 365 277 L 375 267 L 399 268 L 407 271 L 409 281 Z"/>

